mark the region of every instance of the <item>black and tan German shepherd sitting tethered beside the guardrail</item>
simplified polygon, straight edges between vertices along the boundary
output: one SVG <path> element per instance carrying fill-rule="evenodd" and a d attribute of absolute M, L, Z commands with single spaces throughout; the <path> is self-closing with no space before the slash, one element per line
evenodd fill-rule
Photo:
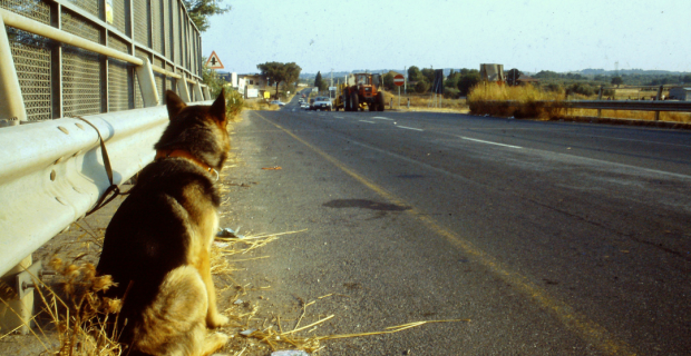
<path fill-rule="evenodd" d="M 96 269 L 117 283 L 104 295 L 123 299 L 109 329 L 129 348 L 124 355 L 211 355 L 228 338 L 207 330 L 228 323 L 210 269 L 215 180 L 231 148 L 225 99 L 188 107 L 167 91 L 166 105 L 156 159 L 110 220 Z"/>

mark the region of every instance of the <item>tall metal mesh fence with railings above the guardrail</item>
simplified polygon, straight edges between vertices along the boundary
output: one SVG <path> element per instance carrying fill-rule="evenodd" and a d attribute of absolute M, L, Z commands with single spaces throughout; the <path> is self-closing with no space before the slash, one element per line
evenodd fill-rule
<path fill-rule="evenodd" d="M 201 80 L 199 32 L 181 0 L 0 0 L 0 8 Z M 6 31 L 29 120 L 144 107 L 134 65 L 10 26 Z M 154 80 L 160 100 L 165 90 L 177 91 L 173 77 L 156 72 Z"/>

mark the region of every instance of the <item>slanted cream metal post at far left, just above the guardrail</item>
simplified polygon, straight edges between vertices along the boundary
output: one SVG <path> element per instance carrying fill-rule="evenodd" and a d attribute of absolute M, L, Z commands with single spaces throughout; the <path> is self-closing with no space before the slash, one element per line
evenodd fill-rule
<path fill-rule="evenodd" d="M 4 30 L 4 21 L 0 16 L 0 119 L 10 120 L 10 125 L 27 121 L 27 109 L 21 96 L 19 78 L 12 60 L 10 40 Z M 14 122 L 16 121 L 16 122 Z"/>

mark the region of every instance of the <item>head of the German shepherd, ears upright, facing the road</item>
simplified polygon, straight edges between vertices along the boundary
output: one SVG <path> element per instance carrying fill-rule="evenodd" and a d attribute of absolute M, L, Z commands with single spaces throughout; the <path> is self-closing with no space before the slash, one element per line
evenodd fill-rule
<path fill-rule="evenodd" d="M 224 90 L 211 106 L 187 106 L 168 90 L 166 107 L 171 123 L 154 148 L 185 150 L 220 171 L 231 149 Z"/>

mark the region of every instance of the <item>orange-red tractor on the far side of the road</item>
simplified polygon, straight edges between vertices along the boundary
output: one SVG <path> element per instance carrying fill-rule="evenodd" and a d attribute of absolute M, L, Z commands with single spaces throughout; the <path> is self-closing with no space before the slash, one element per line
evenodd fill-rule
<path fill-rule="evenodd" d="M 337 87 L 333 108 L 338 111 L 383 111 L 383 83 L 381 75 L 354 73 L 346 76 L 346 82 Z"/>

